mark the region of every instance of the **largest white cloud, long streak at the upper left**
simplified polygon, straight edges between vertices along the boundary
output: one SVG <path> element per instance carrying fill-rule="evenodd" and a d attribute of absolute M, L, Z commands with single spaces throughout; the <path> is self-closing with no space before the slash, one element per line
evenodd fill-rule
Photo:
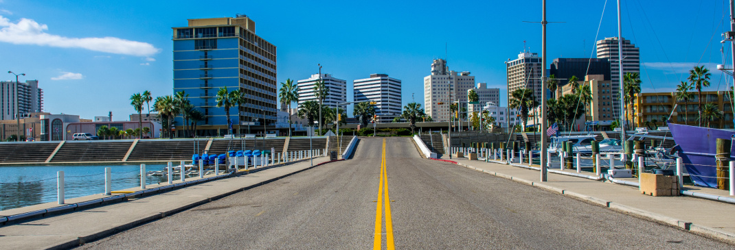
<path fill-rule="evenodd" d="M 32 19 L 21 18 L 18 23 L 0 15 L 0 42 L 12 44 L 29 44 L 58 48 L 84 48 L 90 51 L 101 51 L 112 54 L 130 56 L 151 56 L 161 51 L 150 43 L 124 40 L 118 37 L 62 37 L 46 33 L 49 26 Z"/>

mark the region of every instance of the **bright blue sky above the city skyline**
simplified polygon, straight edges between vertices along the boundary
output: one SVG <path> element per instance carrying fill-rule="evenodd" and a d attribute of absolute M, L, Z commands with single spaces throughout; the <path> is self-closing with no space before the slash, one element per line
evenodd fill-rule
<path fill-rule="evenodd" d="M 589 57 L 617 36 L 615 1 L 548 1 L 548 61 Z M 641 48 L 644 92 L 673 91 L 693 65 L 724 90 L 720 34 L 727 2 L 623 1 L 623 37 Z M 603 15 L 604 7 L 604 15 Z M 724 8 L 723 8 L 724 7 Z M 423 103 L 431 60 L 505 88 L 506 59 L 541 52 L 541 1 L 35 1 L 0 0 L 0 70 L 26 73 L 44 90 L 44 111 L 127 120 L 130 95 L 171 95 L 171 27 L 188 18 L 250 16 L 278 47 L 278 81 L 331 73 L 348 81 L 387 73 L 403 101 Z M 602 18 L 600 25 L 600 17 Z M 598 25 L 600 30 L 598 33 Z M 725 48 L 725 58 L 730 56 Z M 732 62 L 728 59 L 727 64 Z M 548 67 L 548 66 L 547 66 Z M 5 72 L 3 71 L 3 72 Z M 1 80 L 15 80 L 4 74 Z M 501 90 L 502 91 L 502 90 Z M 504 92 L 501 92 L 504 95 Z M 502 102 L 505 102 L 504 98 Z"/>

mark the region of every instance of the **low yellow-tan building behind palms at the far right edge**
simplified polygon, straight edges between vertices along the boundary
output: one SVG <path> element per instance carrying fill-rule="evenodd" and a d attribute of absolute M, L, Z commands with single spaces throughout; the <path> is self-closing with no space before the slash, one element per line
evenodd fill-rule
<path fill-rule="evenodd" d="M 634 100 L 635 114 L 628 114 L 628 117 L 635 117 L 636 127 L 645 127 L 646 122 L 656 120 L 656 125 L 663 125 L 674 106 L 676 110 L 671 116 L 671 122 L 686 125 L 698 125 L 698 100 L 697 92 L 694 97 L 684 103 L 684 100 L 676 100 L 676 92 L 657 92 L 657 93 L 639 93 Z M 730 97 L 731 92 L 725 91 L 707 91 L 702 92 L 702 105 L 705 103 L 714 103 L 717 109 L 723 112 L 723 119 L 711 122 L 712 128 L 733 128 L 733 108 Z M 678 104 L 678 105 L 676 105 Z M 630 119 L 630 118 L 628 118 Z M 703 122 L 704 124 L 705 122 Z"/>

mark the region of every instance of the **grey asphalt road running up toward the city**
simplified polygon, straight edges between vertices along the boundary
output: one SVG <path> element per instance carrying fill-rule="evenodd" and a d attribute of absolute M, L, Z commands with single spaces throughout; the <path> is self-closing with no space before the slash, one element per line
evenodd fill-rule
<path fill-rule="evenodd" d="M 380 185 L 381 169 L 387 189 Z M 390 194 L 390 210 L 379 199 L 379 190 L 381 198 Z M 389 221 L 391 229 L 386 227 Z M 81 248 L 370 249 L 378 223 L 382 249 L 733 248 L 420 158 L 408 138 L 388 138 L 385 144 L 380 138 L 363 138 L 351 160 L 294 174 Z"/>

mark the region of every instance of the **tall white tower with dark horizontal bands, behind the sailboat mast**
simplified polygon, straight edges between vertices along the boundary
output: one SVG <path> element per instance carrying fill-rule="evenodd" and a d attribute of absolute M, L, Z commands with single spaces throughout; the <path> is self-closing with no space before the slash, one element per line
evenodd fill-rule
<path fill-rule="evenodd" d="M 610 61 L 610 81 L 612 86 L 613 109 L 620 110 L 620 64 L 617 62 L 620 50 L 617 46 L 617 37 L 606 37 L 597 41 L 597 57 L 607 58 Z M 631 40 L 623 38 L 623 75 L 625 73 L 640 72 L 641 60 L 639 48 L 631 43 Z M 618 113 L 620 114 L 620 113 Z"/>

